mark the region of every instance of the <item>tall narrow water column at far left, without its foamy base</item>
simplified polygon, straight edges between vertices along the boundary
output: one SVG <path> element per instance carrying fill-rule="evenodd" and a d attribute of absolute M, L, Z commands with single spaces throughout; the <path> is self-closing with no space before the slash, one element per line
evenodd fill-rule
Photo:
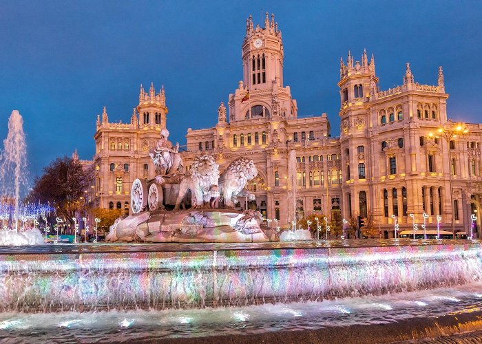
<path fill-rule="evenodd" d="M 23 119 L 14 110 L 8 119 L 8 135 L 3 140 L 0 158 L 0 195 L 14 200 L 14 228 L 19 231 L 19 200 L 22 187 L 27 185 L 27 146 L 23 133 Z"/>

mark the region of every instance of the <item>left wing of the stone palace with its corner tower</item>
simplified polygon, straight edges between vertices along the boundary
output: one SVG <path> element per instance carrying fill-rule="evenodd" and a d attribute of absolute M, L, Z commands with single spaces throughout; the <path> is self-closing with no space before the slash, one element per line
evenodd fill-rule
<path fill-rule="evenodd" d="M 164 87 L 156 94 L 152 84 L 149 92 L 140 86 L 139 104 L 130 123 L 109 122 L 105 107 L 102 116 L 97 116 L 93 158 L 96 208 L 119 208 L 129 213 L 132 182 L 139 176 L 154 178 L 156 175 L 148 153 L 156 147 L 166 116 Z"/>

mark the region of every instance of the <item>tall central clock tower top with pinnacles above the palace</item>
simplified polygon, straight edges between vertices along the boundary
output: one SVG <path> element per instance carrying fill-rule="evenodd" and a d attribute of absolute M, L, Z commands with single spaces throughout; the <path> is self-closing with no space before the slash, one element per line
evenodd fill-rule
<path fill-rule="evenodd" d="M 248 89 L 283 87 L 283 43 L 275 16 L 266 12 L 264 28 L 253 27 L 253 18 L 246 21 L 246 37 L 242 45 L 244 85 Z"/>

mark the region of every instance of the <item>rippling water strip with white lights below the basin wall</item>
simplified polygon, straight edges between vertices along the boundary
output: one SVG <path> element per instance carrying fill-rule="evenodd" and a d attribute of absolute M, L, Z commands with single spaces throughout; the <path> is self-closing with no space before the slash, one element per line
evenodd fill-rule
<path fill-rule="evenodd" d="M 0 314 L 0 340 L 129 341 L 316 330 L 346 325 L 391 323 L 413 317 L 471 312 L 481 307 L 482 282 L 381 297 L 295 302 L 232 308 L 162 311 Z"/>

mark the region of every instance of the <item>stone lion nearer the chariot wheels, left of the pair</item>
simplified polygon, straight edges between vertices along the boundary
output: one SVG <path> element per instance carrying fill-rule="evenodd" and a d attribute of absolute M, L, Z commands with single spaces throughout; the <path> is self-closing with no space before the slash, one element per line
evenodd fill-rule
<path fill-rule="evenodd" d="M 213 199 L 219 197 L 218 191 L 219 165 L 209 154 L 204 154 L 194 158 L 186 175 L 180 181 L 178 199 L 174 210 L 179 210 L 182 200 L 191 191 L 191 204 L 193 208 L 202 208 L 205 202 L 213 204 Z"/>

